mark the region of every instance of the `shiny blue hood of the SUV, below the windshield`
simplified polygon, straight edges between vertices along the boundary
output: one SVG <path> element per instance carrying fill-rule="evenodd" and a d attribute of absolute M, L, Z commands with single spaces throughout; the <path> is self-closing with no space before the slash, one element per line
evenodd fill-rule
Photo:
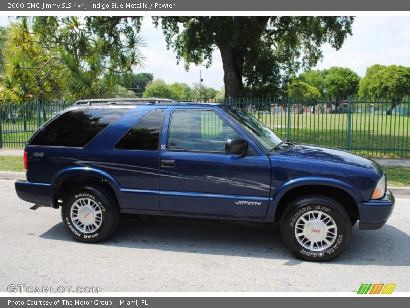
<path fill-rule="evenodd" d="M 377 162 L 344 150 L 308 144 L 297 144 L 286 153 L 290 155 L 295 155 L 298 158 L 306 160 L 313 159 L 316 161 L 323 161 L 327 163 L 351 165 L 368 170 L 376 169 L 378 174 L 383 174 L 383 169 Z"/>

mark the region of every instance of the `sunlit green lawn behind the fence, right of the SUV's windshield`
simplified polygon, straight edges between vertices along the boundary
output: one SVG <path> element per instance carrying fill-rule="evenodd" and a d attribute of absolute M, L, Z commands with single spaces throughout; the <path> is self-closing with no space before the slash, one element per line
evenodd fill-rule
<path fill-rule="evenodd" d="M 280 137 L 286 138 L 286 114 L 254 114 Z M 290 140 L 347 149 L 367 157 L 410 156 L 410 117 L 354 113 L 290 114 Z"/>

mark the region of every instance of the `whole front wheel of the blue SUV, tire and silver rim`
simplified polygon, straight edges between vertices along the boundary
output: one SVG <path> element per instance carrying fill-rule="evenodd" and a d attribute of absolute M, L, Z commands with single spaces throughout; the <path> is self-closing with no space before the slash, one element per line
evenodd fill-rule
<path fill-rule="evenodd" d="M 336 200 L 322 195 L 295 199 L 280 223 L 282 240 L 299 259 L 327 261 L 340 255 L 350 239 L 352 223 Z"/>

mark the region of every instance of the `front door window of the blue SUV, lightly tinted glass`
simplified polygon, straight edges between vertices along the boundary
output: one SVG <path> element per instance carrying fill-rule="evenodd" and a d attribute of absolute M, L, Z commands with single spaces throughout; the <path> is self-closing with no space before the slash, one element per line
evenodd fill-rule
<path fill-rule="evenodd" d="M 168 149 L 225 152 L 229 138 L 240 138 L 219 115 L 210 110 L 175 110 L 171 115 Z"/>

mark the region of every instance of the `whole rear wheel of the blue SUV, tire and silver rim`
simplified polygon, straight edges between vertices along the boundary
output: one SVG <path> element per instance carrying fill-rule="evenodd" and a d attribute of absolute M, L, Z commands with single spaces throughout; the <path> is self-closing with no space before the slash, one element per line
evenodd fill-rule
<path fill-rule="evenodd" d="M 111 236 L 120 220 L 120 211 L 111 192 L 98 186 L 74 189 L 61 207 L 67 232 L 81 242 L 103 241 Z"/>

